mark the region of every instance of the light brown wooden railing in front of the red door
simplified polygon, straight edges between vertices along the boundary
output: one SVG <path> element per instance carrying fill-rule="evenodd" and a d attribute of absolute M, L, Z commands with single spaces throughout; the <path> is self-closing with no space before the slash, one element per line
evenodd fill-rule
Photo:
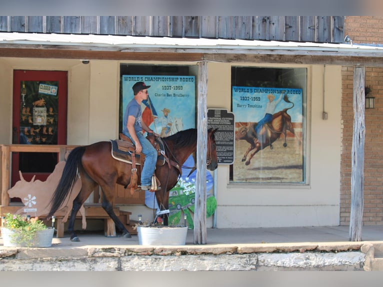
<path fill-rule="evenodd" d="M 1 201 L 0 205 L 9 205 L 8 189 L 10 186 L 10 160 L 12 152 L 57 152 L 58 160 L 64 160 L 65 152 L 77 145 L 50 145 L 50 144 L 1 144 Z"/>

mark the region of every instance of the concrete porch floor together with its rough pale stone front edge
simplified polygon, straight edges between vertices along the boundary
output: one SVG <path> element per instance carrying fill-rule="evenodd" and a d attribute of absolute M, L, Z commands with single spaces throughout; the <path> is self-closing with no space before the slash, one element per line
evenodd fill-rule
<path fill-rule="evenodd" d="M 49 248 L 3 247 L 8 270 L 383 270 L 383 226 L 364 226 L 362 240 L 348 240 L 348 226 L 208 228 L 206 244 L 139 245 L 138 236 L 78 232 L 53 238 Z"/>

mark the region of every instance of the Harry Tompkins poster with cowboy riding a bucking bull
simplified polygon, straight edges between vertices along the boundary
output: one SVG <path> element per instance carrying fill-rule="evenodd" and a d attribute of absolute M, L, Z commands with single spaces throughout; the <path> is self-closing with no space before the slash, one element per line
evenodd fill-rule
<path fill-rule="evenodd" d="M 233 181 L 304 181 L 302 89 L 232 87 Z"/>

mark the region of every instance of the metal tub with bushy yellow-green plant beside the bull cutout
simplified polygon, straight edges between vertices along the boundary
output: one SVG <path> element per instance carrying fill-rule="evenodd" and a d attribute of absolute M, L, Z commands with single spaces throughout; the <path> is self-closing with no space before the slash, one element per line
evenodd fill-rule
<path fill-rule="evenodd" d="M 6 213 L 2 218 L 1 235 L 6 247 L 50 247 L 54 228 L 46 226 L 38 217 L 24 217 Z"/>

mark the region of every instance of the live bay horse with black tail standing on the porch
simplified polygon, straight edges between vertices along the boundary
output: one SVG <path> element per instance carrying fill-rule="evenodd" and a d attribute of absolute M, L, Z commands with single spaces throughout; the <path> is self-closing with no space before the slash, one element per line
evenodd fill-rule
<path fill-rule="evenodd" d="M 216 144 L 214 133 L 217 129 L 207 131 L 206 167 L 209 170 L 217 168 Z M 169 190 L 174 187 L 181 173 L 181 166 L 187 157 L 196 152 L 197 130 L 189 128 L 178 131 L 168 137 L 161 138 L 164 143 L 164 153 L 171 164 L 156 166 L 155 175 L 160 182 L 161 189 L 155 191 L 158 206 L 168 209 Z M 138 171 L 137 171 L 138 173 Z M 51 207 L 47 218 L 50 218 L 71 191 L 75 180 L 80 176 L 81 189 L 73 199 L 72 210 L 68 222 L 71 241 L 79 241 L 74 232 L 74 219 L 77 211 L 86 198 L 99 185 L 102 189 L 101 206 L 114 221 L 116 228 L 124 237 L 131 237 L 125 226 L 113 211 L 112 202 L 115 196 L 115 184 L 127 186 L 130 182 L 131 164 L 114 159 L 111 156 L 111 143 L 99 141 L 90 145 L 78 146 L 68 155 L 61 178 L 52 195 Z M 140 191 L 143 192 L 143 191 Z M 167 225 L 167 217 L 164 224 Z"/>

